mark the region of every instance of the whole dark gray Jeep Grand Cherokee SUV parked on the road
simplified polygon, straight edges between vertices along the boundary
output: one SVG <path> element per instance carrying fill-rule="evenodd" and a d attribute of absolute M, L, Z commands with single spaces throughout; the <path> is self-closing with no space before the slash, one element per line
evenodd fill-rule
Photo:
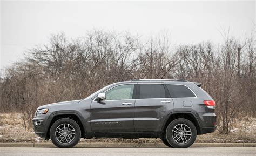
<path fill-rule="evenodd" d="M 161 138 L 166 146 L 190 147 L 216 129 L 214 100 L 185 80 L 136 79 L 100 89 L 83 100 L 37 108 L 35 133 L 58 147 L 80 138 Z"/>

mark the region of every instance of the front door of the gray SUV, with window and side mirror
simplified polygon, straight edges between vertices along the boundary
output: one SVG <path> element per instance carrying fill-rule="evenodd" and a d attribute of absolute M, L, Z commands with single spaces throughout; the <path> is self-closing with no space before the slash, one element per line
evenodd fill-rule
<path fill-rule="evenodd" d="M 92 132 L 134 132 L 135 83 L 111 87 L 105 91 L 105 96 L 103 101 L 92 101 Z"/>

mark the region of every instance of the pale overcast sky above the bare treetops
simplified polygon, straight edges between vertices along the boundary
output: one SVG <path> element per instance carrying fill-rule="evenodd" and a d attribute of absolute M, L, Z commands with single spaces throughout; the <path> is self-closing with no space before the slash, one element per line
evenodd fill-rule
<path fill-rule="evenodd" d="M 220 31 L 230 28 L 231 35 L 244 38 L 254 25 L 255 1 L 1 1 L 0 69 L 57 32 L 79 37 L 98 28 L 150 36 L 168 30 L 176 44 L 220 43 Z"/>

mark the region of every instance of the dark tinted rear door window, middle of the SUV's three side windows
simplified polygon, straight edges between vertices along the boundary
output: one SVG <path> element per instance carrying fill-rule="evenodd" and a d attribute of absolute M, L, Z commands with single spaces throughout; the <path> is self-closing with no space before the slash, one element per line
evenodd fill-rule
<path fill-rule="evenodd" d="M 164 85 L 161 84 L 140 84 L 139 98 L 165 98 Z"/>

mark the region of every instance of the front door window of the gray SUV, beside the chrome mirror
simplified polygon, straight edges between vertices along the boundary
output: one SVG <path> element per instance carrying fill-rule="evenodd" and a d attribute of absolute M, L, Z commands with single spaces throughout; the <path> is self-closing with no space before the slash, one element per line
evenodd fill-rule
<path fill-rule="evenodd" d="M 105 92 L 106 100 L 132 99 L 134 85 L 120 85 Z"/>

